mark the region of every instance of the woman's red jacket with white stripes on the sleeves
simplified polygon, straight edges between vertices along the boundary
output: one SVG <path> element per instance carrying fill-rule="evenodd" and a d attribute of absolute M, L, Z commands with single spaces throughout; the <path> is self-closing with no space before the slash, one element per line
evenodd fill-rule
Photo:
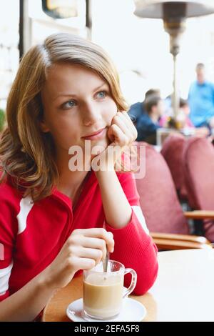
<path fill-rule="evenodd" d="M 73 229 L 103 227 L 103 224 L 115 240 L 111 260 L 136 270 L 136 295 L 148 291 L 158 272 L 156 245 L 139 207 L 133 174 L 117 173 L 117 176 L 132 207 L 131 221 L 122 229 L 113 229 L 111 223 L 106 223 L 101 191 L 93 171 L 74 210 L 71 199 L 57 189 L 34 204 L 31 197 L 23 198 L 9 179 L 0 184 L 0 301 L 44 270 Z"/>

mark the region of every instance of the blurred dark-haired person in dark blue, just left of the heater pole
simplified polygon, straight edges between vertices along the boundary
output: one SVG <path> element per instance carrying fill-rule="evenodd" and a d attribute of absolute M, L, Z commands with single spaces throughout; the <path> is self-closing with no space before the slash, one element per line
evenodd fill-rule
<path fill-rule="evenodd" d="M 143 103 L 145 113 L 138 120 L 137 141 L 145 141 L 148 144 L 156 144 L 156 131 L 161 126 L 159 119 L 163 116 L 165 105 L 163 99 L 157 95 L 147 97 Z"/>

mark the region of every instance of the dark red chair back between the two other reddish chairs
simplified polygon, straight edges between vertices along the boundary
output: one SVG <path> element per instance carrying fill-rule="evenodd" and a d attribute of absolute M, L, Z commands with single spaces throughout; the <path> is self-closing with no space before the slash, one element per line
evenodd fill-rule
<path fill-rule="evenodd" d="M 185 189 L 185 180 L 183 173 L 183 148 L 185 137 L 181 134 L 171 134 L 163 142 L 161 154 L 163 155 L 170 173 L 175 183 L 180 200 L 187 199 L 187 191 Z"/>

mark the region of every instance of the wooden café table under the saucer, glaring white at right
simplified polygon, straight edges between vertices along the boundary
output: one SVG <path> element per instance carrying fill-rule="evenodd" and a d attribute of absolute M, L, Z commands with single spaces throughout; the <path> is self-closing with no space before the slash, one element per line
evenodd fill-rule
<path fill-rule="evenodd" d="M 133 296 L 146 307 L 144 321 L 214 321 L 214 249 L 158 253 L 158 278 L 146 295 Z M 82 297 L 82 277 L 51 298 L 43 321 L 69 321 L 66 307 Z"/>

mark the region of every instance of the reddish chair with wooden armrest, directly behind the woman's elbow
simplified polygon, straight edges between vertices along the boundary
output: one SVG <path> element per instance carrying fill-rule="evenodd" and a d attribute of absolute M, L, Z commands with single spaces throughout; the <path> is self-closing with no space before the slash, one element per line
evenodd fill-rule
<path fill-rule="evenodd" d="M 162 155 L 146 142 L 146 175 L 136 179 L 140 204 L 146 224 L 159 249 L 203 248 L 209 244 L 204 237 L 194 237 L 175 191 L 175 185 Z"/>

